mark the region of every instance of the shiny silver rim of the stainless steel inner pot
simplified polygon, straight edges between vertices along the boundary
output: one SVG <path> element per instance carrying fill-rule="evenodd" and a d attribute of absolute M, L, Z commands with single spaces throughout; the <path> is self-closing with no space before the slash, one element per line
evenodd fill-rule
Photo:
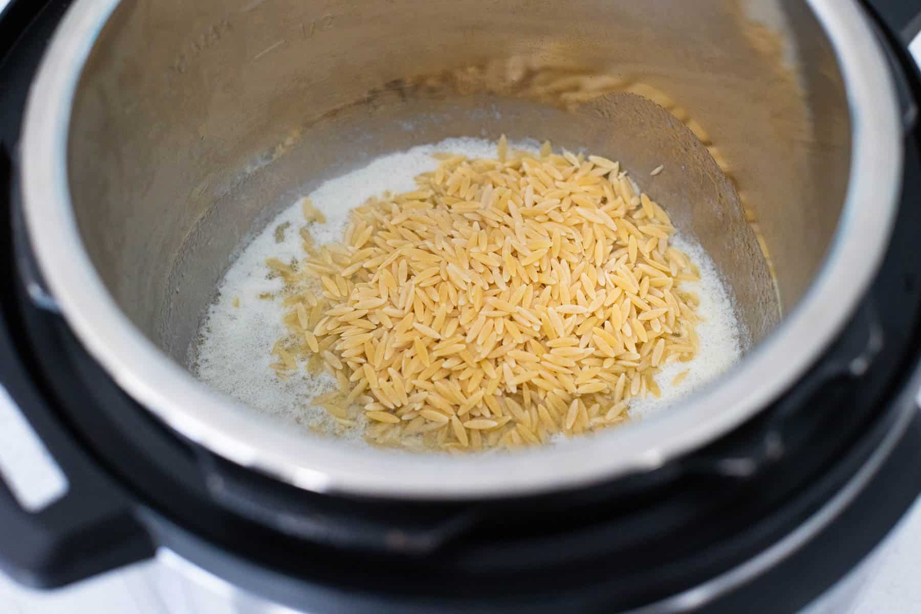
<path fill-rule="evenodd" d="M 845 79 L 852 123 L 845 206 L 829 254 L 799 305 L 730 377 L 684 400 L 680 411 L 559 446 L 421 459 L 293 433 L 196 380 L 122 313 L 83 248 L 70 200 L 73 99 L 119 0 L 77 0 L 30 88 L 20 154 L 31 245 L 64 319 L 125 392 L 192 442 L 297 487 L 395 498 L 503 497 L 655 469 L 751 418 L 801 376 L 856 309 L 888 243 L 903 162 L 889 66 L 856 0 L 807 2 Z"/>

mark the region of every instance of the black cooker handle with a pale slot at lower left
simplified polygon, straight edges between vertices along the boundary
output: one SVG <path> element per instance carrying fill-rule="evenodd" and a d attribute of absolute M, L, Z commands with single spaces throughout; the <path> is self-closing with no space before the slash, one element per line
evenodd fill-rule
<path fill-rule="evenodd" d="M 0 148 L 0 203 L 10 170 Z M 8 222 L 0 218 L 6 245 Z M 6 284 L 15 277 L 9 267 L 9 259 L 0 261 Z M 23 348 L 11 336 L 16 314 L 9 305 L 0 305 L 0 570 L 20 584 L 52 588 L 152 556 L 133 504 L 27 371 Z"/>

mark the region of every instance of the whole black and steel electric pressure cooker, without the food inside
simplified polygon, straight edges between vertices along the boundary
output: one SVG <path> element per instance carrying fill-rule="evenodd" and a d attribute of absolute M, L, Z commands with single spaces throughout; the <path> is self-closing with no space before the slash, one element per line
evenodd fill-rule
<path fill-rule="evenodd" d="M 921 492 L 904 4 L 12 2 L 3 570 L 50 589 L 155 559 L 190 611 L 845 611 Z M 500 132 L 664 165 L 739 365 L 469 458 L 301 434 L 190 375 L 252 228 L 374 156 Z"/>

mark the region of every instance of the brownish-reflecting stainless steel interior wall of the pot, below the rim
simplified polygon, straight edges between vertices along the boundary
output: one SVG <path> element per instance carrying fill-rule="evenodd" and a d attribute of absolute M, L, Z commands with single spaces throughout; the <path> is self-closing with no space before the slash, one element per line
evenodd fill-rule
<path fill-rule="evenodd" d="M 81 77 L 68 172 L 111 294 L 184 363 L 235 250 L 297 196 L 500 133 L 621 160 L 716 262 L 751 342 L 844 202 L 842 78 L 786 1 L 126 0 Z"/>

